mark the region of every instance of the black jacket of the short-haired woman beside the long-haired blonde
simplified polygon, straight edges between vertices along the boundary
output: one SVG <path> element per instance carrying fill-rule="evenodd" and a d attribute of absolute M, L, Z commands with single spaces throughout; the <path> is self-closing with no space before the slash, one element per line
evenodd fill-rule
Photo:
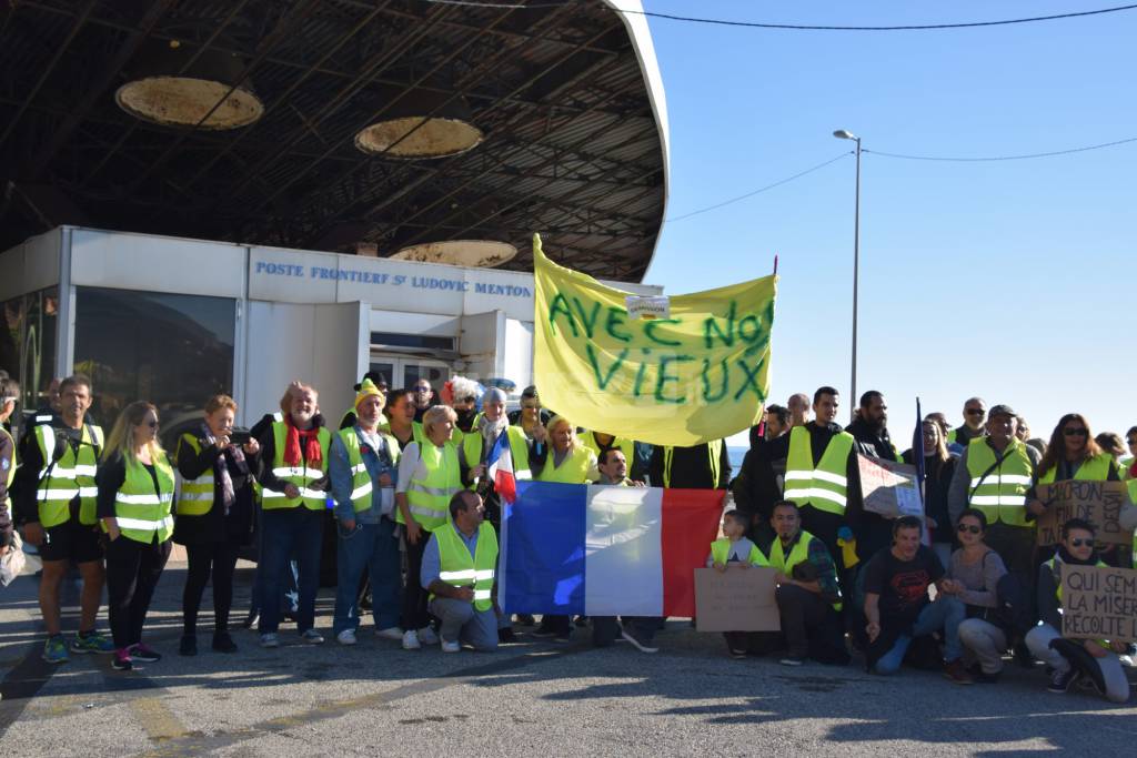
<path fill-rule="evenodd" d="M 198 445 L 201 452 L 196 452 L 188 442 L 177 442 L 177 473 L 185 481 L 194 480 L 206 472 L 214 475 L 214 501 L 209 511 L 200 516 L 176 516 L 174 519 L 174 542 L 179 544 L 214 544 L 217 542 L 233 541 L 238 544 L 248 544 L 252 534 L 252 477 L 256 468 L 255 464 L 246 459 L 244 455 L 236 455 L 232 450 L 224 453 L 217 450 L 217 445 L 206 440 L 206 430 L 201 428 L 197 433 Z M 229 476 L 233 481 L 233 503 L 225 515 L 221 500 L 221 478 L 216 468 L 219 455 L 224 455 L 225 467 Z"/>

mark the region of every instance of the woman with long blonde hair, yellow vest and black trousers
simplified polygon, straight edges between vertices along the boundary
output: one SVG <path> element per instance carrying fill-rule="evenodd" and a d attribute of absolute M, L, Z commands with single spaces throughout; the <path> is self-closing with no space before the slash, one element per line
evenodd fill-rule
<path fill-rule="evenodd" d="M 174 533 L 174 469 L 158 443 L 158 409 L 144 400 L 126 406 L 107 439 L 96 475 L 97 513 L 107 532 L 107 607 L 115 639 L 111 666 L 161 656 L 142 642 L 150 598 L 169 558 Z"/>

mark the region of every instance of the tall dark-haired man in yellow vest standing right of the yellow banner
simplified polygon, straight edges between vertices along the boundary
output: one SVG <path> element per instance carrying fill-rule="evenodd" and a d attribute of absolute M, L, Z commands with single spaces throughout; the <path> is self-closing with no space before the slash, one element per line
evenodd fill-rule
<path fill-rule="evenodd" d="M 758 495 L 777 491 L 772 461 L 786 459 L 786 489 L 782 497 L 800 509 L 802 528 L 821 540 L 829 555 L 841 560 L 837 533 L 860 514 L 861 476 L 856 460 L 856 440 L 836 423 L 840 395 L 831 386 L 813 393 L 814 420 L 795 426 L 772 441 L 758 440 L 756 478 L 764 480 L 753 491 Z M 771 513 L 773 503 L 758 501 L 758 513 Z M 850 513 L 852 511 L 852 513 Z M 838 572 L 846 568 L 838 565 Z"/>

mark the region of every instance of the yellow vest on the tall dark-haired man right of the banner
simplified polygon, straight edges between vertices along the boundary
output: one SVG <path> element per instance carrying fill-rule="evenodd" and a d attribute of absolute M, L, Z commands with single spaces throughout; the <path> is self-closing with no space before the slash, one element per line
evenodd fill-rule
<path fill-rule="evenodd" d="M 835 434 L 814 467 L 810 430 L 795 426 L 789 433 L 783 497 L 798 508 L 811 505 L 818 510 L 844 516 L 849 486 L 846 474 L 849 452 L 855 443 L 848 432 Z"/>

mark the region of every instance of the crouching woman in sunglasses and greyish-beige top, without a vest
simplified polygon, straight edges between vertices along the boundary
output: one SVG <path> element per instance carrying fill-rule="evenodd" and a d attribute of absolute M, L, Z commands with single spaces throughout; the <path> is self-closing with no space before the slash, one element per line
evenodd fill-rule
<path fill-rule="evenodd" d="M 960 642 L 965 664 L 978 663 L 972 681 L 994 684 L 1003 672 L 1003 652 L 1009 647 L 1006 631 L 988 619 L 998 607 L 995 588 L 1006 574 L 998 553 L 984 542 L 987 517 L 977 508 L 960 515 L 956 535 L 962 545 L 952 553 L 943 591 L 958 598 L 968 608 L 968 618 L 960 624 Z"/>

